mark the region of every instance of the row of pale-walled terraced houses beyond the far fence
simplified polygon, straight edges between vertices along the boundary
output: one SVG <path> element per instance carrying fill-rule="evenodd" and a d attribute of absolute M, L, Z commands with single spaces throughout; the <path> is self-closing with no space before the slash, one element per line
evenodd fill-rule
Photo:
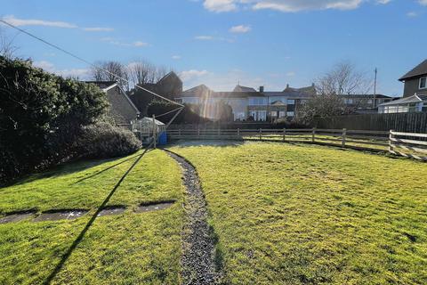
<path fill-rule="evenodd" d="M 237 85 L 232 92 L 215 92 L 206 85 L 198 85 L 175 96 L 177 102 L 193 104 L 205 118 L 220 119 L 222 106 L 231 108 L 235 121 L 275 121 L 294 118 L 299 106 L 316 94 L 314 85 L 278 92 Z"/>

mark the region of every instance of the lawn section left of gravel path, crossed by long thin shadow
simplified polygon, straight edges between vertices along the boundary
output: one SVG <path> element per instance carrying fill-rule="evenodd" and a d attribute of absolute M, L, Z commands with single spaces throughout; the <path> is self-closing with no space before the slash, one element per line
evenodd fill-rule
<path fill-rule="evenodd" d="M 89 210 L 72 221 L 0 224 L 0 284 L 43 283 L 137 155 L 68 164 L 0 189 L 1 214 Z M 97 217 L 52 283 L 176 284 L 182 193 L 180 167 L 165 152 L 149 151 L 109 200 L 125 213 Z M 161 212 L 133 212 L 141 203 L 171 199 L 173 207 Z"/>

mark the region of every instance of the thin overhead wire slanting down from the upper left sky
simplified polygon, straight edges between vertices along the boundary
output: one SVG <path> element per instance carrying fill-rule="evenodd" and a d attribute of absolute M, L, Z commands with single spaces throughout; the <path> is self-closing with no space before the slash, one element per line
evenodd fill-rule
<path fill-rule="evenodd" d="M 28 35 L 29 37 L 36 38 L 36 40 L 38 40 L 38 41 L 40 41 L 40 42 L 44 43 L 45 45 L 52 46 L 54 49 L 57 49 L 57 50 L 59 50 L 59 51 L 60 51 L 60 52 L 62 52 L 62 53 L 67 53 L 69 56 L 71 56 L 71 57 L 73 57 L 73 58 L 77 59 L 78 61 L 83 61 L 83 62 L 85 62 L 86 64 L 90 65 L 90 66 L 91 66 L 91 67 L 93 67 L 94 69 L 99 69 L 99 70 L 101 70 L 101 71 L 103 71 L 103 72 L 108 73 L 109 75 L 112 75 L 112 76 L 114 76 L 114 77 L 116 77 L 116 78 L 118 78 L 118 79 L 120 79 L 120 80 L 125 81 L 126 83 L 129 83 L 129 80 L 127 80 L 127 79 L 125 79 L 125 78 L 123 78 L 123 77 L 119 77 L 119 76 L 117 76 L 116 74 L 114 74 L 113 72 L 111 72 L 111 71 L 109 71 L 109 70 L 107 70 L 107 69 L 102 69 L 101 67 L 99 67 L 99 66 L 97 66 L 97 65 L 93 64 L 92 62 L 90 62 L 90 61 L 86 61 L 84 58 L 81 58 L 80 56 L 78 56 L 78 55 L 76 55 L 76 54 L 74 54 L 74 53 L 70 53 L 70 52 L 68 52 L 67 50 L 65 50 L 65 49 L 61 48 L 61 47 L 60 47 L 60 46 L 58 46 L 58 45 L 54 45 L 54 44 L 52 44 L 52 43 L 50 43 L 50 42 L 48 42 L 48 41 L 44 40 L 44 39 L 43 39 L 43 38 L 41 38 L 41 37 L 37 37 L 37 36 L 35 36 L 35 35 L 33 35 L 33 34 L 29 33 L 29 32 L 28 32 L 28 31 L 26 31 L 25 29 L 18 28 L 18 27 L 16 27 L 15 25 L 12 25 L 11 23 L 9 23 L 9 22 L 7 22 L 7 21 L 5 21 L 5 20 L 3 20 L 3 19 L 0 19 L 0 22 L 3 22 L 4 24 L 6 24 L 7 26 L 9 26 L 9 27 L 11 27 L 11 28 L 15 28 L 15 29 L 19 30 L 20 32 L 22 32 L 22 33 L 24 33 L 24 34 Z M 172 101 L 172 100 L 170 100 L 170 99 L 167 99 L 167 98 L 165 98 L 164 96 L 161 96 L 161 95 L 159 95 L 159 94 L 156 94 L 156 93 L 154 93 L 154 92 L 152 92 L 152 91 L 149 91 L 148 89 L 146 89 L 146 88 L 144 88 L 144 87 L 141 87 L 140 85 L 135 85 L 135 87 L 138 87 L 138 88 L 140 88 L 141 90 L 143 90 L 143 91 L 145 91 L 145 92 L 148 92 L 149 94 L 155 95 L 155 96 L 157 96 L 158 98 L 161 98 L 161 99 L 163 99 L 163 100 L 165 100 L 165 101 L 167 101 L 167 102 L 172 102 L 173 104 L 178 105 L 178 106 L 180 106 L 180 107 L 184 108 L 184 105 L 182 105 L 182 104 L 180 104 L 180 103 L 178 103 L 178 102 L 174 102 L 174 101 Z"/>

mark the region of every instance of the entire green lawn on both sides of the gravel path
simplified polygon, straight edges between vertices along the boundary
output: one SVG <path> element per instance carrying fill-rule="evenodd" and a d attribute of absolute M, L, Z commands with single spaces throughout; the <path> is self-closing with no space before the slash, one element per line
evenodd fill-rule
<path fill-rule="evenodd" d="M 427 164 L 274 142 L 171 150 L 197 167 L 226 282 L 427 283 Z M 89 213 L 0 224 L 0 284 L 43 283 L 137 155 L 68 164 L 1 188 L 1 216 Z M 134 212 L 171 199 L 161 212 Z M 97 217 L 52 283 L 180 283 L 182 202 L 180 167 L 149 151 L 109 200 L 125 213 Z"/>

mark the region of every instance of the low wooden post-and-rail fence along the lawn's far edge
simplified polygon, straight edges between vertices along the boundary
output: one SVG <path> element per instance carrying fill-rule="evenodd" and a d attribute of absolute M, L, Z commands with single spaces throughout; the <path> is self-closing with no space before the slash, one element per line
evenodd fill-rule
<path fill-rule="evenodd" d="M 427 160 L 427 134 L 343 129 L 172 129 L 172 140 L 307 142 Z"/>

